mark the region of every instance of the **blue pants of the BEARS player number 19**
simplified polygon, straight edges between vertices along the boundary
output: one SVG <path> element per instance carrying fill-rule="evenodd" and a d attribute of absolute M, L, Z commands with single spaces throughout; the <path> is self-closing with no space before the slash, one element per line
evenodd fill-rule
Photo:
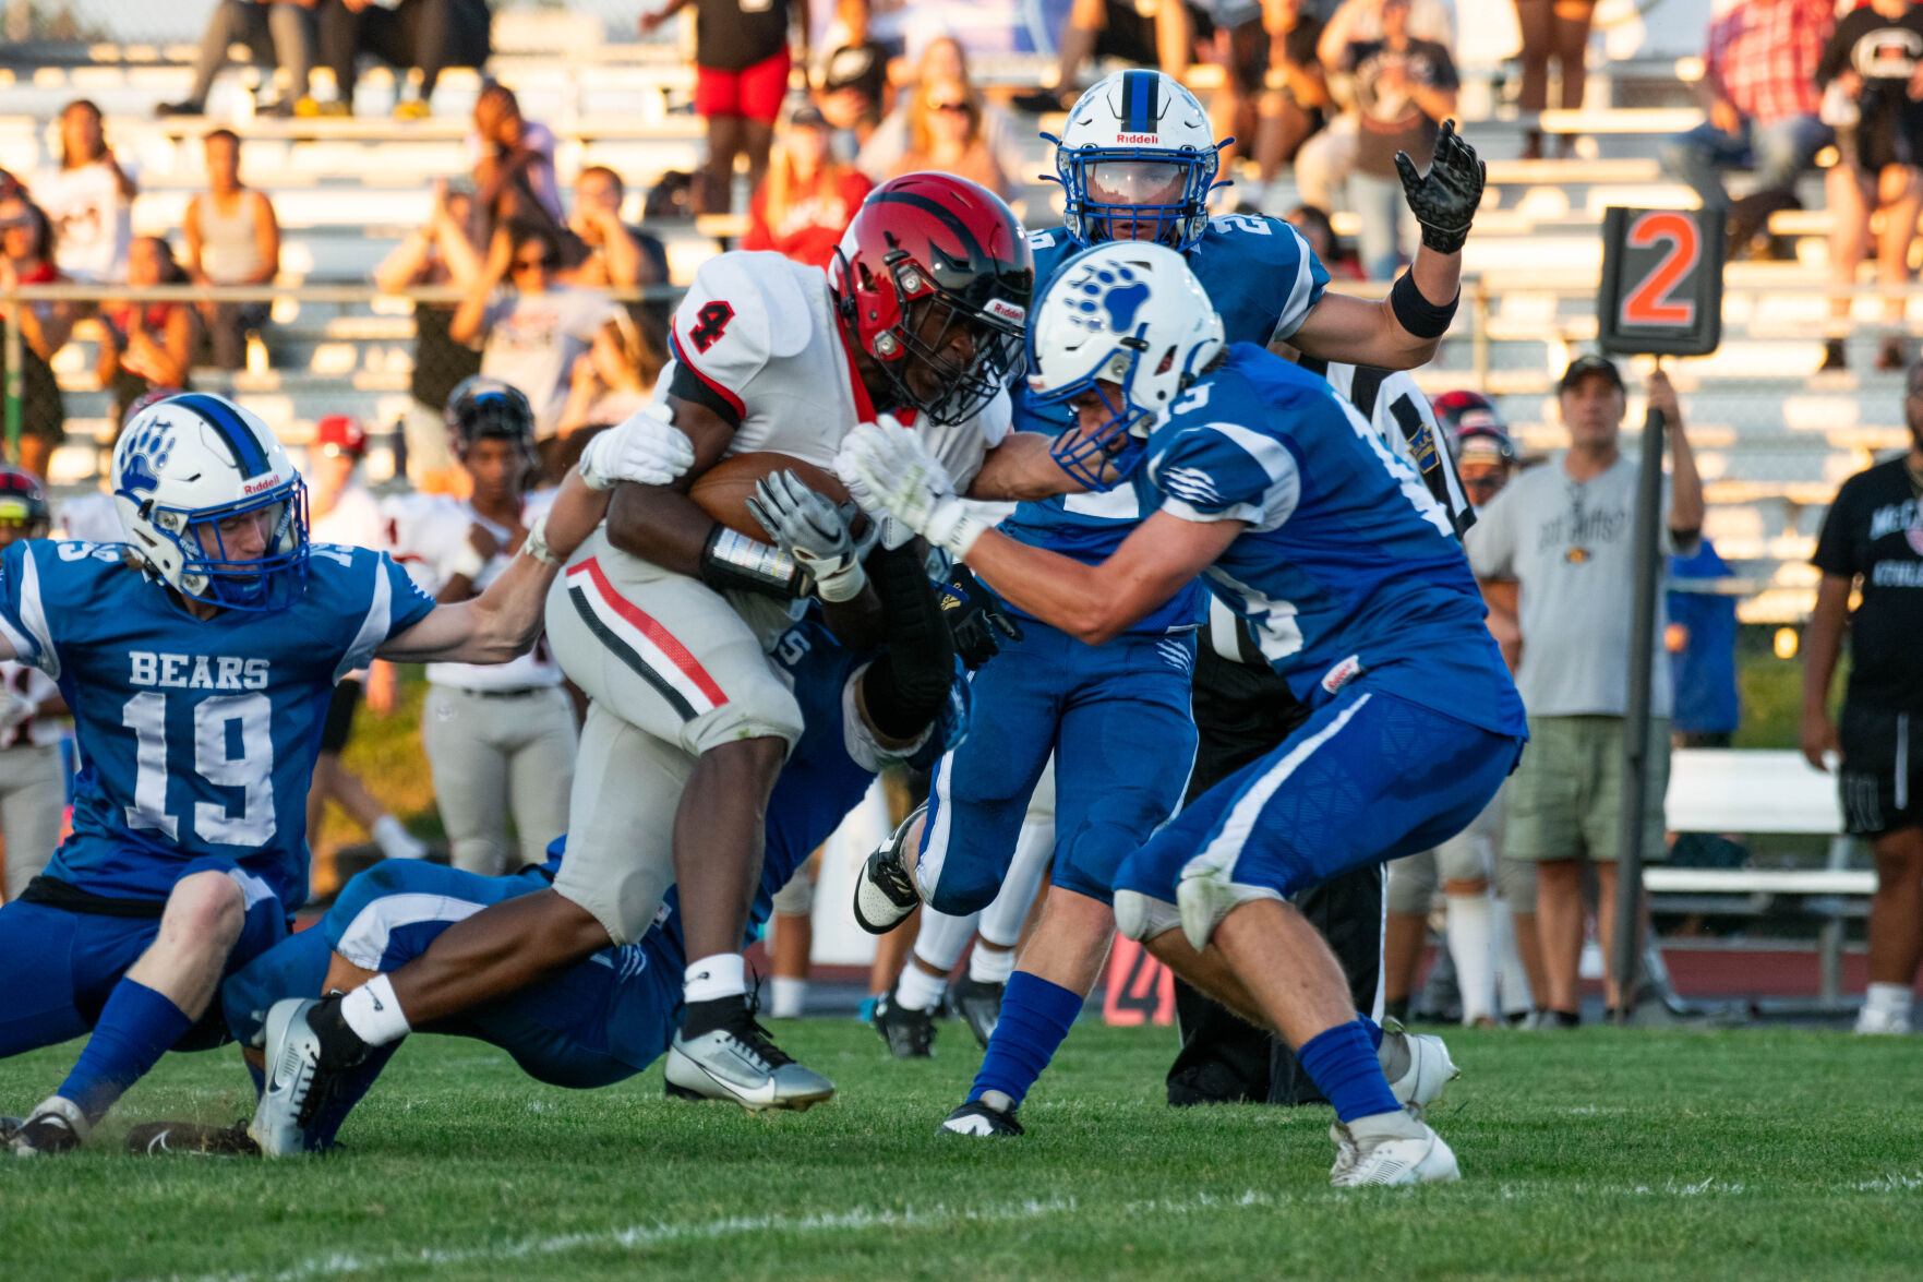
<path fill-rule="evenodd" d="M 246 920 L 227 955 L 227 974 L 287 937 L 287 909 L 267 884 L 225 860 L 194 860 L 181 876 L 227 872 L 246 895 Z M 152 916 L 106 916 L 50 903 L 15 899 L 0 905 L 0 1057 L 79 1038 L 100 1018 L 113 986 L 160 934 Z M 221 1009 L 213 1009 L 179 1043 L 204 1051 L 225 1041 Z"/>

